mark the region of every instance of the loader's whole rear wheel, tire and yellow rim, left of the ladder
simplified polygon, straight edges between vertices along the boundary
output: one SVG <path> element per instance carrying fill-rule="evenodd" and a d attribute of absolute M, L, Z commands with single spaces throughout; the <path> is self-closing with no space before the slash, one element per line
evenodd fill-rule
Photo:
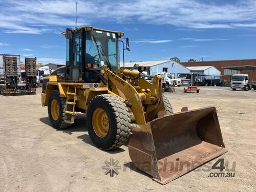
<path fill-rule="evenodd" d="M 60 97 L 59 91 L 53 90 L 49 95 L 48 115 L 52 126 L 57 129 L 65 129 L 71 124 L 65 123 L 66 99 Z"/>

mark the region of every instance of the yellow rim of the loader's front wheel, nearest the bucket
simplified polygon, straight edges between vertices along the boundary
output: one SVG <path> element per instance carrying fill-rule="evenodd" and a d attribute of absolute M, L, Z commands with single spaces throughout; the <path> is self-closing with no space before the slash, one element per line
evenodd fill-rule
<path fill-rule="evenodd" d="M 110 128 L 109 117 L 103 109 L 97 108 L 93 112 L 92 122 L 93 130 L 98 137 L 103 138 L 108 134 Z"/>

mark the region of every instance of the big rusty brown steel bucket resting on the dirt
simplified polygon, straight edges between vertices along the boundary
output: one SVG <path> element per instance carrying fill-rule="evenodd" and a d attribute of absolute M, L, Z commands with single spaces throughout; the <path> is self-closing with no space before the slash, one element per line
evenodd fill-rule
<path fill-rule="evenodd" d="M 226 152 L 215 107 L 134 124 L 129 141 L 132 162 L 161 184 Z"/>

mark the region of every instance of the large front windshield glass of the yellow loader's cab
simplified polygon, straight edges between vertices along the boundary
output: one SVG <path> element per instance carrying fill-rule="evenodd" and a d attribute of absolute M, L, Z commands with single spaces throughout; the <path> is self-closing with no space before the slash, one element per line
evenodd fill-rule
<path fill-rule="evenodd" d="M 115 33 L 94 30 L 86 32 L 86 63 L 117 67 L 118 39 Z M 104 63 L 104 64 L 103 64 Z"/>

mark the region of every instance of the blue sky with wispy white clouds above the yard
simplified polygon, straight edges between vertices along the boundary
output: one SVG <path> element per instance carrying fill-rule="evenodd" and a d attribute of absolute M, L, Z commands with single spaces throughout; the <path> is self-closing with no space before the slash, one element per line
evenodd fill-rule
<path fill-rule="evenodd" d="M 123 31 L 125 61 L 256 58 L 256 1 L 78 1 L 78 27 Z M 75 1 L 1 1 L 0 53 L 65 63 Z M 122 58 L 122 57 L 121 57 Z"/>

